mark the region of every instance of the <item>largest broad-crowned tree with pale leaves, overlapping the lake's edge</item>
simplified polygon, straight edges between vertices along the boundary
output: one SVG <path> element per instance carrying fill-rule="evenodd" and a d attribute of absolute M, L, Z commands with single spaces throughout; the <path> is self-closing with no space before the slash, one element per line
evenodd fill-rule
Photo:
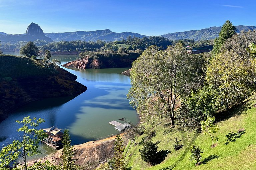
<path fill-rule="evenodd" d="M 132 64 L 131 89 L 127 94 L 130 104 L 136 108 L 141 118 L 148 112 L 162 113 L 174 125 L 176 105 L 198 80 L 194 62 L 197 57 L 190 55 L 181 43 L 169 46 L 165 51 L 152 45 Z M 154 109 L 152 109 L 154 103 Z"/>

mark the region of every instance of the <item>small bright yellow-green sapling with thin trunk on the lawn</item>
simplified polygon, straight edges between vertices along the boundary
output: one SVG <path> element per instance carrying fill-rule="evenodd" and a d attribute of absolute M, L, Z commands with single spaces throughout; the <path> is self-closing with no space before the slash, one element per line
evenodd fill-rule
<path fill-rule="evenodd" d="M 218 141 L 217 137 L 212 136 L 212 133 L 216 133 L 219 130 L 218 125 L 214 125 L 213 122 L 215 121 L 215 117 L 207 117 L 205 121 L 201 121 L 201 128 L 204 131 L 204 135 L 209 133 L 212 138 L 212 146 L 214 147 L 213 138 Z"/>

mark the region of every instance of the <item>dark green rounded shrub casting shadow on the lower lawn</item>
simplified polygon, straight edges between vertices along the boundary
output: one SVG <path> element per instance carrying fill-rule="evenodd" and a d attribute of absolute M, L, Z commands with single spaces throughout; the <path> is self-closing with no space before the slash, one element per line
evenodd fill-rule
<path fill-rule="evenodd" d="M 157 148 L 157 144 L 153 143 L 152 140 L 144 142 L 143 147 L 139 149 L 141 159 L 145 162 L 149 162 L 151 165 L 158 164 L 159 152 Z"/>

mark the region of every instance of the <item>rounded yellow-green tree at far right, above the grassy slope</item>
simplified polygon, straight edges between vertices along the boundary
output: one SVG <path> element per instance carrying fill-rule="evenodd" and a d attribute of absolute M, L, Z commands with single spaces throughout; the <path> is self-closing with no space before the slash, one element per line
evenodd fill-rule
<path fill-rule="evenodd" d="M 251 68 L 250 60 L 229 51 L 220 52 L 210 60 L 206 81 L 218 89 L 226 110 L 231 100 L 248 96 L 251 92 L 248 86 L 253 81 Z"/>

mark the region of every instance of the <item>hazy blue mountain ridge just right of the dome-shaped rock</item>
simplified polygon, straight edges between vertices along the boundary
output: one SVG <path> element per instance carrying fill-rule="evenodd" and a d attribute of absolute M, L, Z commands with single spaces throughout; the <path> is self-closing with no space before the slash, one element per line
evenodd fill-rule
<path fill-rule="evenodd" d="M 148 37 L 140 35 L 138 33 L 123 32 L 123 33 L 114 33 L 109 29 L 106 30 L 97 30 L 97 31 L 76 31 L 76 32 L 67 32 L 67 33 L 45 33 L 46 37 L 49 37 L 53 41 L 72 41 L 72 40 L 83 40 L 83 41 L 121 41 L 126 39 L 128 36 L 132 37 Z"/>

